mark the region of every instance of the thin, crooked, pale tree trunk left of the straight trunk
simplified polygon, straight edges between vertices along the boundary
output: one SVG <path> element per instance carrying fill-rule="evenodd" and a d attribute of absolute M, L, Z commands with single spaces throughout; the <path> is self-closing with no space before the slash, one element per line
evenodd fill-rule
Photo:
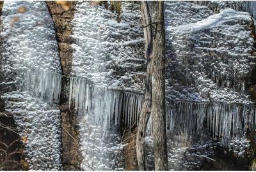
<path fill-rule="evenodd" d="M 144 155 L 145 133 L 147 129 L 148 118 L 152 106 L 152 25 L 147 1 L 141 1 L 141 18 L 145 38 L 145 57 L 147 59 L 147 78 L 145 82 L 145 97 L 140 113 L 138 124 L 138 133 L 136 138 L 136 153 L 138 166 L 140 170 L 146 170 L 146 161 Z"/>

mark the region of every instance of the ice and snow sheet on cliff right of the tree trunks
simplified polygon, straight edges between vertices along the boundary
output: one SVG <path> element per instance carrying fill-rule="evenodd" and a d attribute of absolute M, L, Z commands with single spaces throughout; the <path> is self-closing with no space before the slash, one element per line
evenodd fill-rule
<path fill-rule="evenodd" d="M 214 153 L 212 138 L 243 156 L 249 146 L 244 134 L 255 129 L 255 105 L 247 92 L 255 66 L 252 18 L 232 9 L 214 14 L 188 2 L 165 2 L 165 8 L 170 169 L 198 169 Z M 153 169 L 153 156 L 147 155 Z"/>

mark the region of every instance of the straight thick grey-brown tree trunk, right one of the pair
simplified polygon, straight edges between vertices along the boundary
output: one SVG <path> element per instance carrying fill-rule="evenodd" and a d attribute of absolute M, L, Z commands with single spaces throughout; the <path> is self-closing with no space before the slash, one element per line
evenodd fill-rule
<path fill-rule="evenodd" d="M 154 163 L 156 170 L 168 170 L 166 146 L 165 116 L 165 78 L 164 78 L 164 2 L 153 1 L 152 24 L 153 39 L 153 73 L 152 73 L 152 118 L 154 137 Z"/>

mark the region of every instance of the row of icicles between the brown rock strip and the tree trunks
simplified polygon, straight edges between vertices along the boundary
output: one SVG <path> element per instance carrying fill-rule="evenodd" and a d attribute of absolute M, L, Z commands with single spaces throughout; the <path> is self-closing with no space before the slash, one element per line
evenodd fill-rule
<path fill-rule="evenodd" d="M 69 106 L 74 106 L 81 115 L 104 121 L 105 129 L 120 124 L 130 128 L 138 123 L 143 96 L 129 92 L 93 87 L 83 78 L 70 77 Z"/>

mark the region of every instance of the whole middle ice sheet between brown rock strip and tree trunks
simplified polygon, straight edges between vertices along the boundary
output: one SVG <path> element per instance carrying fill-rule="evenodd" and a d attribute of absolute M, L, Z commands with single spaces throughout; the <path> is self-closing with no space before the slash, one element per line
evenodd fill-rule
<path fill-rule="evenodd" d="M 120 125 L 128 129 L 140 115 L 145 69 L 140 4 L 122 2 L 119 19 L 103 6 L 76 4 L 69 102 L 78 113 L 83 169 L 123 169 Z"/>

